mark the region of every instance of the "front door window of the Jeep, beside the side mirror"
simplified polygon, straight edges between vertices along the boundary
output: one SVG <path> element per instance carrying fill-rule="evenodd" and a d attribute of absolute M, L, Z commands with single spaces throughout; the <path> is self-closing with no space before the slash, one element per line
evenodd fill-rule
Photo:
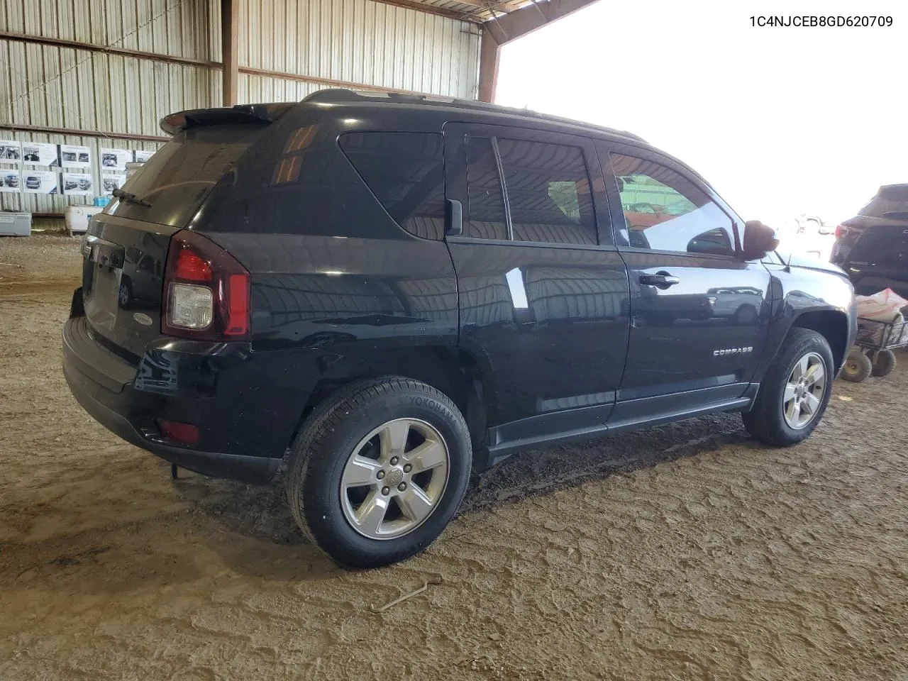
<path fill-rule="evenodd" d="M 684 175 L 621 153 L 609 154 L 609 163 L 621 192 L 631 246 L 735 254 L 731 218 Z"/>

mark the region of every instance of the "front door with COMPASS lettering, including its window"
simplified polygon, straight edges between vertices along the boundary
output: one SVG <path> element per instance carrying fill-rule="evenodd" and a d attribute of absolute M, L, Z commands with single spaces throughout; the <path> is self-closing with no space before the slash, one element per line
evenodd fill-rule
<path fill-rule="evenodd" d="M 745 262 L 744 225 L 679 163 L 603 144 L 618 251 L 627 263 L 627 368 L 611 423 L 741 398 L 769 323 L 769 273 Z"/>

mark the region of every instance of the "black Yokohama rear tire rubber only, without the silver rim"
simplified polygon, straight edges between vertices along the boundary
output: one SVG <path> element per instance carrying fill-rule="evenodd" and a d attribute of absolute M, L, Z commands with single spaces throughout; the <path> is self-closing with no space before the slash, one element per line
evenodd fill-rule
<path fill-rule="evenodd" d="M 344 516 L 341 476 L 360 441 L 394 419 L 419 419 L 439 432 L 449 452 L 448 481 L 418 527 L 398 538 L 369 538 Z M 380 568 L 439 537 L 463 499 L 471 465 L 467 423 L 446 395 L 398 376 L 361 380 L 331 394 L 306 419 L 291 447 L 287 497 L 302 531 L 331 558 L 349 568 Z"/>

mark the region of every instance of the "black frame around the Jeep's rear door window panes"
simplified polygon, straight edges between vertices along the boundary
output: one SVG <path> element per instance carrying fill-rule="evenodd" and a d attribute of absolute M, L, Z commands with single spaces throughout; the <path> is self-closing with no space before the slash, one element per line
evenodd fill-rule
<path fill-rule="evenodd" d="M 445 157 L 445 198 L 467 203 L 467 140 L 469 137 L 489 139 L 493 143 L 493 154 L 498 167 L 498 182 L 501 185 L 502 202 L 505 204 L 505 220 L 508 225 L 508 241 L 500 239 L 482 239 L 466 235 L 445 234 L 445 240 L 458 243 L 495 243 L 498 245 L 528 245 L 535 247 L 555 247 L 567 249 L 582 249 L 588 251 L 617 251 L 615 232 L 612 226 L 611 197 L 607 192 L 607 178 L 602 171 L 602 163 L 596 149 L 596 140 L 593 137 L 584 137 L 568 133 L 558 133 L 537 128 L 511 127 L 508 125 L 495 125 L 489 123 L 469 123 L 462 121 L 449 121 L 442 127 Z M 513 222 L 510 216 L 510 203 L 507 196 L 507 185 L 504 178 L 504 169 L 501 165 L 498 150 L 498 138 L 558 144 L 573 146 L 580 150 L 583 163 L 587 170 L 591 207 L 593 209 L 593 227 L 596 243 L 562 243 L 562 242 L 524 242 L 513 238 Z M 601 180 L 602 188 L 597 188 Z M 469 208 L 465 211 L 465 224 L 469 221 Z M 603 242 L 607 240 L 607 242 Z"/>

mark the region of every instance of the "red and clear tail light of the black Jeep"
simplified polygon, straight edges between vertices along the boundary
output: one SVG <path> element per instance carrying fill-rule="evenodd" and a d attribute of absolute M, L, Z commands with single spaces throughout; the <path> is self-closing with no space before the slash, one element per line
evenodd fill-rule
<path fill-rule="evenodd" d="M 219 245 L 190 230 L 167 250 L 161 331 L 202 341 L 249 338 L 249 271 Z"/>

